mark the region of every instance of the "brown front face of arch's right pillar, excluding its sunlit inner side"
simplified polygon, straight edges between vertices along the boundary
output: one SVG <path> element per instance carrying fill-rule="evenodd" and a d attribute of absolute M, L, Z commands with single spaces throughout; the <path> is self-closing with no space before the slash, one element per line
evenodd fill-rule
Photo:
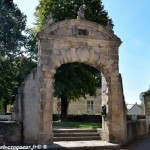
<path fill-rule="evenodd" d="M 125 102 L 123 95 L 122 79 L 119 74 L 111 76 L 111 133 L 112 142 L 126 143 L 127 123 L 125 113 Z"/>

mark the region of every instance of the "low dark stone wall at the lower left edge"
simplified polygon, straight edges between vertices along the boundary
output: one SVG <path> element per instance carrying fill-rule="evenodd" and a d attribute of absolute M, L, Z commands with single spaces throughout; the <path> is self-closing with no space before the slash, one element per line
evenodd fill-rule
<path fill-rule="evenodd" d="M 21 144 L 22 124 L 16 121 L 0 121 L 0 144 Z"/>

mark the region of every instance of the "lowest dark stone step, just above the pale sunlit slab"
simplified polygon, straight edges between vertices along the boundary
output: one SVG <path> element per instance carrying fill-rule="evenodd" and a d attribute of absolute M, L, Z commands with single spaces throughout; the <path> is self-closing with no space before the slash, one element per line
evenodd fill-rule
<path fill-rule="evenodd" d="M 100 136 L 53 137 L 54 141 L 89 141 L 100 140 Z"/>

